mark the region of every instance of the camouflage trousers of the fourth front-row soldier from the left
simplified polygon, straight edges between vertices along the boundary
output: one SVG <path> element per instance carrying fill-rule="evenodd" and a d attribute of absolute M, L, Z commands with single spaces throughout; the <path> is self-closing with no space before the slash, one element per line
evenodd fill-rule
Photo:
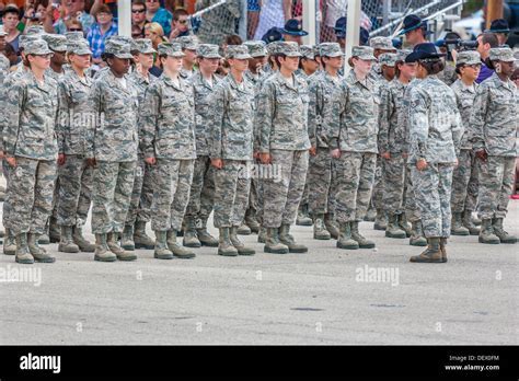
<path fill-rule="evenodd" d="M 245 217 L 251 190 L 250 164 L 240 160 L 223 160 L 215 170 L 215 228 L 239 227 Z"/>

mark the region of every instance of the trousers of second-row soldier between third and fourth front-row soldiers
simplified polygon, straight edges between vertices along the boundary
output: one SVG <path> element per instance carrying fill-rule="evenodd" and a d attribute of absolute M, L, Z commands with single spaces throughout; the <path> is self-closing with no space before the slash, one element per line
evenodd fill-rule
<path fill-rule="evenodd" d="M 215 203 L 215 168 L 206 155 L 196 158 L 194 165 L 185 217 L 207 221 Z"/>

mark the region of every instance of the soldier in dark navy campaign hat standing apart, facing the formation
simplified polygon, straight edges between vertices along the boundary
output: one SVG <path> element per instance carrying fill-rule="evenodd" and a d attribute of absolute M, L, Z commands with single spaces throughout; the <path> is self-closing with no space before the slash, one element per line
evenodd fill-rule
<path fill-rule="evenodd" d="M 426 43 L 416 45 L 407 57 L 417 60 L 416 72 L 423 78 L 410 94 L 408 162 L 428 243 L 411 262 L 447 262 L 452 173 L 458 164 L 463 126 L 454 92 L 437 77 L 443 70 L 441 56 L 434 44 Z"/>

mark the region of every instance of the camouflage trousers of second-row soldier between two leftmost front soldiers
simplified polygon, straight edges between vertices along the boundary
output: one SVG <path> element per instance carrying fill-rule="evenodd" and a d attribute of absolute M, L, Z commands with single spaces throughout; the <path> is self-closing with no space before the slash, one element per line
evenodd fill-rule
<path fill-rule="evenodd" d="M 77 154 L 67 155 L 64 165 L 58 166 L 59 197 L 58 224 L 82 227 L 86 222 L 92 200 L 94 170 L 86 160 Z"/>

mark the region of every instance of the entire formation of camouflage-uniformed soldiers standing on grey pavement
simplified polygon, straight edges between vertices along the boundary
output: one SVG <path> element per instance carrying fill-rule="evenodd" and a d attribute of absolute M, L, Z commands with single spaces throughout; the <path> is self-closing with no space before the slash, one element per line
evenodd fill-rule
<path fill-rule="evenodd" d="M 427 246 L 412 262 L 447 262 L 451 233 L 516 242 L 503 228 L 518 129 L 508 47 L 491 50 L 495 73 L 481 85 L 478 54 L 460 53 L 451 86 L 432 44 L 397 51 L 387 37 L 353 47 L 345 76 L 337 43 L 228 46 L 224 78 L 219 46 L 194 36 L 158 51 L 111 37 L 93 78 L 80 33 L 36 28 L 1 77 L 0 120 L 3 252 L 18 263 L 54 262 L 47 233 L 59 252 L 102 262 L 135 261 L 136 249 L 193 258 L 201 245 L 253 255 L 243 229 L 266 253 L 304 253 L 290 234 L 302 205 L 313 238 L 344 250 L 374 247 L 359 231 L 373 206 L 385 236 Z M 187 51 L 197 70 L 183 66 Z M 91 204 L 95 244 L 82 232 Z"/>

